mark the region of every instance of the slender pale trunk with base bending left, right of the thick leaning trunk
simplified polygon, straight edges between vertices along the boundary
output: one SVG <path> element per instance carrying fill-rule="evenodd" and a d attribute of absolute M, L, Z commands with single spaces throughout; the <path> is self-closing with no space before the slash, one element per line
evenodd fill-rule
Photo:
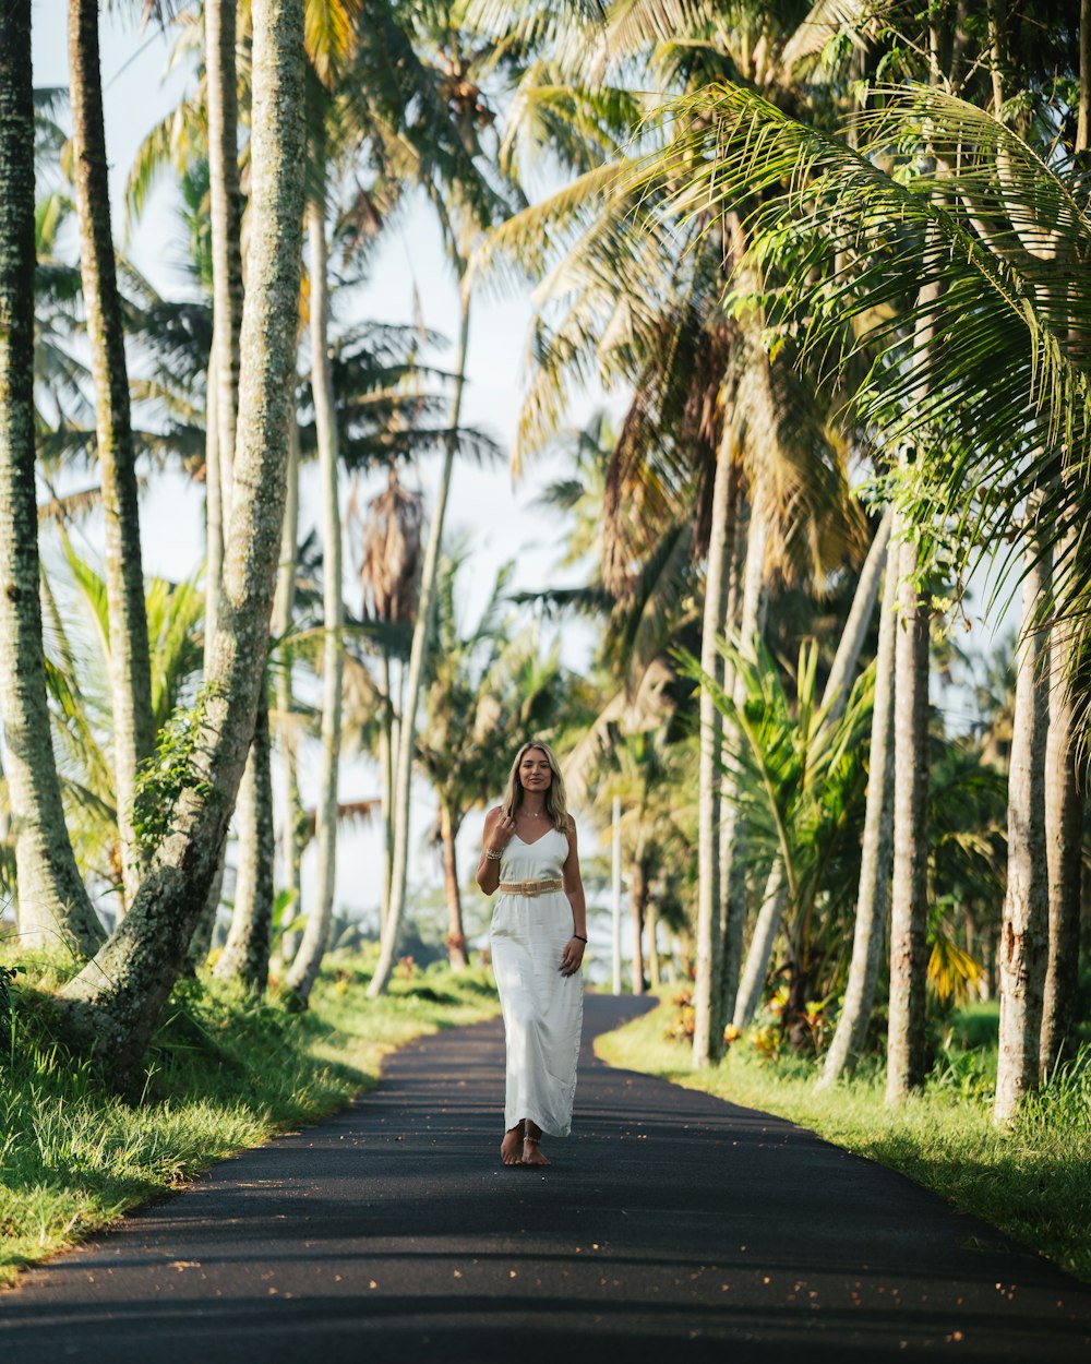
<path fill-rule="evenodd" d="M 307 914 L 303 941 L 288 973 L 288 989 L 299 1005 L 307 1004 L 318 979 L 333 923 L 337 883 L 337 776 L 341 754 L 341 677 L 345 666 L 345 603 L 341 582 L 340 454 L 333 370 L 329 356 L 326 217 L 322 203 L 307 213 L 311 247 L 311 387 L 315 396 L 315 428 L 322 465 L 322 772 L 315 810 L 318 876 Z"/>

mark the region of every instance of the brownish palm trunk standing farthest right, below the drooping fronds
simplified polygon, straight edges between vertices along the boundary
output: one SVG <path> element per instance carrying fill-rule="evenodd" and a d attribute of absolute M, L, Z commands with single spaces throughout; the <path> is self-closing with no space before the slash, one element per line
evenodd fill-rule
<path fill-rule="evenodd" d="M 1083 791 L 1072 704 L 1071 626 L 1050 640 L 1046 836 L 1049 855 L 1049 966 L 1042 1008 L 1041 1073 L 1045 1079 L 1075 1039 L 1083 903 Z"/>

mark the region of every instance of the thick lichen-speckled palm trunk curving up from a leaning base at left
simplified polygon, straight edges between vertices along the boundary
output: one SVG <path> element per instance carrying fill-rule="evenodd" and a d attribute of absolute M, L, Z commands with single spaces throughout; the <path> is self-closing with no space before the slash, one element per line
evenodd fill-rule
<path fill-rule="evenodd" d="M 303 0 L 255 0 L 251 216 L 236 496 L 191 783 L 130 914 L 63 990 L 68 1027 L 132 1084 L 181 968 L 235 806 L 265 683 L 284 522 L 303 226 Z M 211 791 L 211 794 L 206 794 Z"/>

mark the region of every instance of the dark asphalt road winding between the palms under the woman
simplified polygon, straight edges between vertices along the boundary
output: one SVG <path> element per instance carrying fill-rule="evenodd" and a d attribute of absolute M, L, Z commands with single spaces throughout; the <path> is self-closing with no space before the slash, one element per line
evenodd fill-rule
<path fill-rule="evenodd" d="M 591 1038 L 547 1172 L 496 1158 L 498 1023 L 211 1170 L 0 1297 L 0 1361 L 1091 1360 L 1091 1289 L 788 1123 Z M 637 1005 L 638 1007 L 638 1005 Z"/>

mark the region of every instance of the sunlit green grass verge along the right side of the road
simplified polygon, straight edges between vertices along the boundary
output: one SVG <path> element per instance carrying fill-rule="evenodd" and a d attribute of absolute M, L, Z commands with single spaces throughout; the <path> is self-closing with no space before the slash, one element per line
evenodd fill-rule
<path fill-rule="evenodd" d="M 882 1076 L 859 1076 L 816 1094 L 813 1063 L 768 1061 L 743 1037 L 717 1065 L 690 1068 L 689 1046 L 664 1034 L 676 1008 L 661 1004 L 596 1052 L 611 1065 L 659 1075 L 807 1127 L 900 1170 L 956 1207 L 1091 1279 L 1091 1053 L 1042 1091 L 1008 1133 L 991 1124 L 991 1076 L 981 1053 L 949 1050 L 925 1088 L 897 1109 Z M 985 1018 L 968 1023 L 987 1033 Z M 994 1063 L 991 1067 L 994 1072 Z"/>

